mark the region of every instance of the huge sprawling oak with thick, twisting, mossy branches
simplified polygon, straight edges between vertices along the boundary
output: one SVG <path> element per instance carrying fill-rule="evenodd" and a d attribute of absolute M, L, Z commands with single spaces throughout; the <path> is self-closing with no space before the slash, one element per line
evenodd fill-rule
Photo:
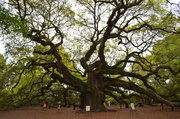
<path fill-rule="evenodd" d="M 21 53 L 15 53 L 17 60 L 26 59 L 12 88 L 20 85 L 27 69 L 39 69 L 42 74 L 31 85 L 38 85 L 42 95 L 55 82 L 66 84 L 81 93 L 83 107 L 90 105 L 95 111 L 106 110 L 105 95 L 120 103 L 145 95 L 180 106 L 166 98 L 177 97 L 176 92 L 166 95 L 152 84 L 152 80 L 161 83 L 164 70 L 171 77 L 178 75 L 180 65 L 159 65 L 146 57 L 158 40 L 180 33 L 175 4 L 166 0 L 9 0 L 7 4 L 25 26 L 24 39 L 6 41 L 19 45 L 19 50 L 13 44 L 8 50 Z"/>

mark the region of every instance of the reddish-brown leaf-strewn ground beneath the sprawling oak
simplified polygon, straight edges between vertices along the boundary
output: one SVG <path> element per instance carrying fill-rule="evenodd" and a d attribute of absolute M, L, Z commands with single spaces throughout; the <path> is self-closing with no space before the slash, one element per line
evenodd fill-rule
<path fill-rule="evenodd" d="M 130 115 L 130 109 L 120 106 L 107 106 L 109 112 L 80 112 L 79 108 L 73 110 L 72 107 L 62 107 L 62 111 L 57 112 L 57 108 L 42 110 L 42 107 L 22 107 L 12 111 L 0 111 L 0 119 L 180 119 L 180 108 L 164 106 L 136 107 L 136 113 Z"/>

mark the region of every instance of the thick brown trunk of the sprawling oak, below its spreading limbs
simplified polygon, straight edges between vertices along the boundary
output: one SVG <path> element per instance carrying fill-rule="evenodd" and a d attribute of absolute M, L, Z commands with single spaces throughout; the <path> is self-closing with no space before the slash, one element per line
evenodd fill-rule
<path fill-rule="evenodd" d="M 92 111 L 106 111 L 104 83 L 100 75 L 88 74 L 87 90 L 81 95 L 82 105 L 90 105 Z"/>

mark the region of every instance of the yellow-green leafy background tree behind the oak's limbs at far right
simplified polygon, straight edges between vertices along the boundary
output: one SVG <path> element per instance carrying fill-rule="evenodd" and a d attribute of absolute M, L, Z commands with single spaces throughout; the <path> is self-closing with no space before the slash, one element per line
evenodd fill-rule
<path fill-rule="evenodd" d="M 164 40 L 160 40 L 156 43 L 153 47 L 154 52 L 154 59 L 153 62 L 158 65 L 168 65 L 172 67 L 172 70 L 178 71 L 179 70 L 179 57 L 180 57 L 180 48 L 179 46 L 179 35 L 171 34 L 167 36 Z M 164 90 L 161 90 L 161 93 L 167 95 L 173 95 L 173 98 L 170 99 L 180 99 L 179 98 L 179 91 L 180 91 L 180 84 L 179 84 L 179 74 L 174 76 L 170 73 L 169 70 L 162 70 L 160 73 L 162 77 L 158 83 L 161 86 L 156 87 L 164 87 Z"/>

